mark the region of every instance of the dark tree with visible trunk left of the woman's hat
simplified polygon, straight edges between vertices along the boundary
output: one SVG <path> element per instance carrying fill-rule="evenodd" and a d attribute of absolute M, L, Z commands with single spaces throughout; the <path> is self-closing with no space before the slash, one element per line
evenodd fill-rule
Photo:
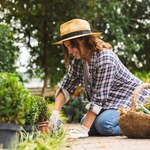
<path fill-rule="evenodd" d="M 28 71 L 40 76 L 44 73 L 43 96 L 49 79 L 52 84 L 60 81 L 65 74 L 64 64 L 61 63 L 63 53 L 59 46 L 52 45 L 59 35 L 59 25 L 72 18 L 90 17 L 90 12 L 86 11 L 92 11 L 92 2 L 94 1 L 10 0 L 1 3 L 1 11 L 5 12 L 4 19 L 7 23 L 15 23 L 14 30 L 23 34 L 19 40 L 30 49 Z M 34 45 L 33 41 L 37 44 Z"/>

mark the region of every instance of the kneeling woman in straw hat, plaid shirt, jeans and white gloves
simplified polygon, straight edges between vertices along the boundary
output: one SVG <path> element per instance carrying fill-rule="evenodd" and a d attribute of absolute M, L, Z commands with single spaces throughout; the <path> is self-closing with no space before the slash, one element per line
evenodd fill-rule
<path fill-rule="evenodd" d="M 85 138 L 92 134 L 121 135 L 118 124 L 119 108 L 131 105 L 131 95 L 142 81 L 132 75 L 112 51 L 112 46 L 98 38 L 100 33 L 93 33 L 87 21 L 73 19 L 60 26 L 62 44 L 66 49 L 65 62 L 69 71 L 55 96 L 55 107 L 50 117 L 50 130 L 58 130 L 61 124 L 59 112 L 69 100 L 76 88 L 86 85 L 83 60 L 89 67 L 87 114 L 77 129 L 72 129 L 69 136 Z M 87 89 L 87 87 L 86 87 Z M 143 91 L 139 100 L 145 102 Z"/>

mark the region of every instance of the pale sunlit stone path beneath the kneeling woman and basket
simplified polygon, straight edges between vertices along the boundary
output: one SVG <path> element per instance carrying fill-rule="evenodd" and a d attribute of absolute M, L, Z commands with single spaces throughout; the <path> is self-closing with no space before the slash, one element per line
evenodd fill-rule
<path fill-rule="evenodd" d="M 77 124 L 67 124 L 73 128 Z M 129 139 L 126 136 L 89 137 L 85 139 L 69 139 L 65 150 L 148 150 L 150 139 Z"/>

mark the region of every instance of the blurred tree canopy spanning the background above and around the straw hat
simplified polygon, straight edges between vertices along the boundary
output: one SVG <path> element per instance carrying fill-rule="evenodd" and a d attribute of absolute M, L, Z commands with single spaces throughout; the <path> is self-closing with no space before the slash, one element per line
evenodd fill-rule
<path fill-rule="evenodd" d="M 66 74 L 62 48 L 52 43 L 59 39 L 60 24 L 73 18 L 85 19 L 92 31 L 102 32 L 101 39 L 112 44 L 127 68 L 150 71 L 148 0 L 2 0 L 0 4 L 1 23 L 9 24 L 16 42 L 30 51 L 28 72 L 41 77 L 44 87 L 57 84 Z"/>

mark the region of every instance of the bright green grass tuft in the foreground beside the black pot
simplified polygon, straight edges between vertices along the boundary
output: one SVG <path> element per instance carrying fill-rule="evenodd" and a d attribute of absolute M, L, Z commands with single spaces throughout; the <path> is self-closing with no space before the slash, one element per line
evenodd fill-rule
<path fill-rule="evenodd" d="M 41 132 L 35 133 L 21 133 L 20 142 L 16 146 L 17 150 L 60 150 L 65 147 L 64 131 L 58 134 L 45 135 Z"/>

